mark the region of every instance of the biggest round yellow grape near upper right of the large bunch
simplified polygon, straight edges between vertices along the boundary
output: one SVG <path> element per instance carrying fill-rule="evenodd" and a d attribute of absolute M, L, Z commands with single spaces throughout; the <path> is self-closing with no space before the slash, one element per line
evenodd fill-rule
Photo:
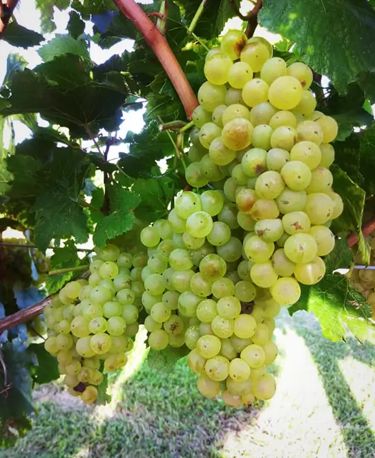
<path fill-rule="evenodd" d="M 300 103 L 302 92 L 298 79 L 280 76 L 269 86 L 269 102 L 279 110 L 291 110 Z"/>

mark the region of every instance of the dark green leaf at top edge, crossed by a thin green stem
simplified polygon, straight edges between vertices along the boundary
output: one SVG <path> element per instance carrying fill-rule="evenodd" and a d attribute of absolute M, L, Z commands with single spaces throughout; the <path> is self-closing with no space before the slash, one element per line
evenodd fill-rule
<path fill-rule="evenodd" d="M 184 19 L 189 26 L 202 0 L 176 0 L 175 3 L 181 6 Z M 229 1 L 208 1 L 197 26 L 195 26 L 194 33 L 198 35 L 198 37 L 206 39 L 218 37 L 227 20 L 234 16 L 235 12 Z"/>

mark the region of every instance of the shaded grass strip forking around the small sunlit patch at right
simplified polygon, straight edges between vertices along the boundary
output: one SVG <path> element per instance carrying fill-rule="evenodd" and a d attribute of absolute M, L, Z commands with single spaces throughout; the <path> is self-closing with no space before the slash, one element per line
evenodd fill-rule
<path fill-rule="evenodd" d="M 375 347 L 369 343 L 360 345 L 352 337 L 348 338 L 346 343 L 329 341 L 322 336 L 317 321 L 314 321 L 311 329 L 300 326 L 301 321 L 305 321 L 305 314 L 295 314 L 291 322 L 292 327 L 296 334 L 305 339 L 311 356 L 316 362 L 327 399 L 345 440 L 348 457 L 374 458 L 374 431 L 364 417 L 338 363 L 351 356 L 354 360 L 375 368 Z M 283 323 L 279 329 L 283 330 Z M 287 327 L 284 328 L 286 329 Z M 375 390 L 375 386 L 372 390 Z"/>

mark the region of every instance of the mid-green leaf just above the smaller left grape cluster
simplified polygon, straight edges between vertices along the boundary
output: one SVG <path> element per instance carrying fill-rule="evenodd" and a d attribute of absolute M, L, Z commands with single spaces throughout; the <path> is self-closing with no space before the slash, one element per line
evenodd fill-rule
<path fill-rule="evenodd" d="M 135 220 L 134 209 L 141 199 L 137 193 L 126 191 L 118 183 L 107 186 L 110 214 L 99 220 L 95 228 L 93 242 L 97 247 L 106 245 L 110 240 L 131 230 Z"/>

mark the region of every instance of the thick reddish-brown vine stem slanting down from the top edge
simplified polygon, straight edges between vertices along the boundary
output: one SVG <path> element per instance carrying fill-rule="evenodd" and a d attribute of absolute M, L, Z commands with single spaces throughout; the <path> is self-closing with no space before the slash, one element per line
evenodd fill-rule
<path fill-rule="evenodd" d="M 191 120 L 193 111 L 198 106 L 198 100 L 168 42 L 134 0 L 113 0 L 113 2 L 134 23 L 146 39 L 148 46 L 151 47 L 169 79 L 171 79 L 171 83 L 184 106 L 186 116 Z"/>

